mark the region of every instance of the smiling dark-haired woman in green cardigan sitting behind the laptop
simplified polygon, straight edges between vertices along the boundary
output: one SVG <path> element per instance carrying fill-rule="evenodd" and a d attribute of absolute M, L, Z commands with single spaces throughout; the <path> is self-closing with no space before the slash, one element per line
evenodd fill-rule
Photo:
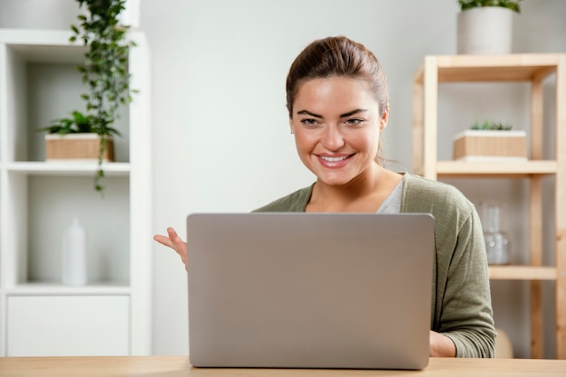
<path fill-rule="evenodd" d="M 474 205 L 448 184 L 382 165 L 389 94 L 380 62 L 345 37 L 312 42 L 287 79 L 289 126 L 316 183 L 257 212 L 429 212 L 435 217 L 430 356 L 493 357 L 486 250 Z M 175 230 L 155 240 L 186 265 Z"/>

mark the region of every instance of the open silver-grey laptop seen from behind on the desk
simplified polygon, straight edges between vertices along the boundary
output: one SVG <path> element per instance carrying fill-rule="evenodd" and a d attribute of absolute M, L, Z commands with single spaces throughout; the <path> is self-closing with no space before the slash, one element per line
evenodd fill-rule
<path fill-rule="evenodd" d="M 432 215 L 195 213 L 186 226 L 193 366 L 428 365 Z"/>

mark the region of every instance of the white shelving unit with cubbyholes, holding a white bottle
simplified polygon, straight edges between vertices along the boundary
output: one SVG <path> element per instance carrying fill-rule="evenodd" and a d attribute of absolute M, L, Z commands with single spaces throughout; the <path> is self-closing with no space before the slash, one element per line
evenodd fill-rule
<path fill-rule="evenodd" d="M 131 87 L 115 125 L 116 163 L 44 162 L 53 118 L 84 108 L 71 32 L 0 29 L 0 356 L 149 354 L 151 127 L 149 49 L 131 33 Z M 87 233 L 89 283 L 61 284 L 61 236 Z M 41 336 L 37 336 L 40 334 Z"/>

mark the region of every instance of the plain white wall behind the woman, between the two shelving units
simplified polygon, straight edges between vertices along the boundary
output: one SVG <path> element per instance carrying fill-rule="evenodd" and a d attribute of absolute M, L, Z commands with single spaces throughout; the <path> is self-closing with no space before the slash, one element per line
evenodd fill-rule
<path fill-rule="evenodd" d="M 285 78 L 297 53 L 327 35 L 363 42 L 382 60 L 390 156 L 409 169 L 412 73 L 425 53 L 455 51 L 457 4 L 402 3 L 142 2 L 154 56 L 156 231 L 184 234 L 189 212 L 247 212 L 313 182 L 289 134 Z M 154 351 L 185 353 L 184 269 L 158 247 L 155 266 Z"/>

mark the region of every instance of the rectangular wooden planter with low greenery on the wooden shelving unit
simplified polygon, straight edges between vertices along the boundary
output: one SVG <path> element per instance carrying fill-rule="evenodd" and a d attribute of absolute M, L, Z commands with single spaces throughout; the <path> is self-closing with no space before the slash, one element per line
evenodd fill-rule
<path fill-rule="evenodd" d="M 501 122 L 475 122 L 454 137 L 454 159 L 464 161 L 526 160 L 526 133 Z"/>

